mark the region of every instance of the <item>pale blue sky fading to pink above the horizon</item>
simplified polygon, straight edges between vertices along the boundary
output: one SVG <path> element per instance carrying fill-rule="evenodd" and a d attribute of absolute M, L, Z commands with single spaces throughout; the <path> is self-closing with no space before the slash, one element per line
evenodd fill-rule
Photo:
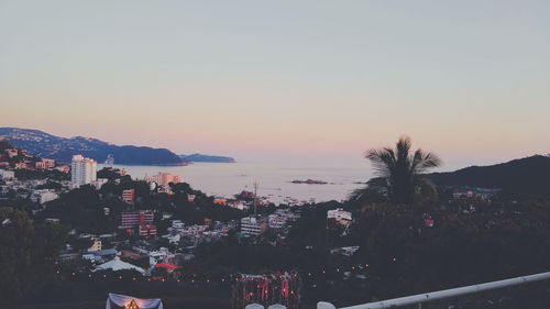
<path fill-rule="evenodd" d="M 443 169 L 550 153 L 550 1 L 0 0 L 0 126 Z"/>

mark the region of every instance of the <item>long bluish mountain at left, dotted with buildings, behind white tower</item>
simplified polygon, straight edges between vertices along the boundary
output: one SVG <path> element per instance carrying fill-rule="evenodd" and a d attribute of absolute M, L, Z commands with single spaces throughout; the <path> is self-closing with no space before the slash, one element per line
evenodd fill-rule
<path fill-rule="evenodd" d="M 103 163 L 108 155 L 116 164 L 128 165 L 185 165 L 187 162 L 166 148 L 118 146 L 90 137 L 59 137 L 38 130 L 0 128 L 0 136 L 15 147 L 34 155 L 69 163 L 75 154 L 81 154 Z"/>

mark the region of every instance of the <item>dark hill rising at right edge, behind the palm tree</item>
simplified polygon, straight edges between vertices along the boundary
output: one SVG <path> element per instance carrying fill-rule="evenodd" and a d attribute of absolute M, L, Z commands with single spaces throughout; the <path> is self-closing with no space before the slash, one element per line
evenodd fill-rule
<path fill-rule="evenodd" d="M 440 186 L 499 188 L 512 194 L 550 197 L 550 156 L 535 155 L 491 166 L 471 166 L 427 176 Z"/>

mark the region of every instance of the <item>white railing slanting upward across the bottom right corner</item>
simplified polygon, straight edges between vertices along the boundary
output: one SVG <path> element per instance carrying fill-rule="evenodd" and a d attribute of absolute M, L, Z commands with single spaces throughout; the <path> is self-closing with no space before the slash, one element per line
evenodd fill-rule
<path fill-rule="evenodd" d="M 340 309 L 384 309 L 391 307 L 400 307 L 407 305 L 422 304 L 427 301 L 432 301 L 437 299 L 450 298 L 466 294 L 474 294 L 484 290 L 498 289 L 504 287 L 510 287 L 516 285 L 521 285 L 526 283 L 539 282 L 550 279 L 550 272 L 540 273 L 530 276 L 516 277 L 510 279 L 504 279 L 498 282 L 479 284 L 473 286 L 465 286 L 459 288 L 443 289 L 438 291 L 430 291 L 425 294 L 418 294 L 413 296 L 399 297 L 383 301 L 369 302 L 363 305 L 356 305 L 351 307 L 344 307 Z M 317 309 L 337 309 L 337 307 L 330 302 L 319 301 L 317 302 Z"/>

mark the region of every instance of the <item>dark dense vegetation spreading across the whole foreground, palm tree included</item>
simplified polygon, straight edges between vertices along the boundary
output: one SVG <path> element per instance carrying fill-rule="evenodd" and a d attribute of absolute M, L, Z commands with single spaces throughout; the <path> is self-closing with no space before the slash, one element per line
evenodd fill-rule
<path fill-rule="evenodd" d="M 371 183 L 372 188 L 359 191 L 345 202 L 299 207 L 301 218 L 288 233 L 267 232 L 250 239 L 232 233 L 223 241 L 200 244 L 196 258 L 183 265 L 183 282 L 131 280 L 139 276 L 132 272 L 98 276 L 87 273 L 86 265 L 77 267 L 81 271 L 78 273 L 73 271 L 75 265 L 58 265 L 62 272 L 57 275 L 53 260 L 66 242 L 78 249 L 89 245 L 69 238 L 69 229 L 81 233 L 116 231 L 119 214 L 128 209 L 153 210 L 161 234 L 167 229 L 167 221 L 161 220 L 163 213 L 193 224 L 202 223 L 206 218 L 239 219 L 246 212 L 215 205 L 212 197 L 188 184 L 172 184 L 174 195 L 167 195 L 145 181 L 108 169 L 99 173 L 109 179 L 100 190 L 82 186 L 65 192 L 47 202 L 33 222 L 26 213 L 35 208 L 25 200 L 4 201 L 10 207 L 0 208 L 0 222 L 7 222 L 0 227 L 0 296 L 10 301 L 97 299 L 108 291 L 151 297 L 183 294 L 229 297 L 231 284 L 222 279 L 231 275 L 295 271 L 301 276 L 306 305 L 329 300 L 337 306 L 349 306 L 550 269 L 548 198 L 526 192 L 517 199 L 503 191 L 491 199 L 453 199 L 444 187 L 430 190 L 429 183 L 421 180 L 421 172 L 436 166 L 437 157 L 409 150 L 410 142 L 402 140 L 395 151 L 371 152 L 370 158 L 382 176 Z M 529 162 L 536 161 L 543 170 L 547 159 L 539 156 Z M 512 166 L 524 163 L 515 162 Z M 509 165 L 499 166 L 504 167 Z M 493 173 L 494 168 L 488 170 Z M 50 181 L 44 186 L 57 185 Z M 125 189 L 135 190 L 135 201 L 131 205 L 120 200 Z M 189 195 L 195 196 L 194 202 L 189 201 Z M 327 220 L 327 211 L 336 208 L 353 213 L 351 227 Z M 271 205 L 261 207 L 258 212 L 271 213 L 274 209 Z M 7 218 L 10 220 L 4 221 Z M 44 224 L 46 218 L 58 218 L 62 224 Z M 338 249 L 344 246 L 359 250 L 351 256 L 339 254 Z M 543 283 L 483 298 L 502 302 L 491 308 L 514 308 L 519 304 L 544 308 L 550 301 L 544 291 L 548 287 Z M 451 301 L 453 306 L 458 304 Z M 468 304 L 464 308 L 486 308 L 477 305 Z"/>

